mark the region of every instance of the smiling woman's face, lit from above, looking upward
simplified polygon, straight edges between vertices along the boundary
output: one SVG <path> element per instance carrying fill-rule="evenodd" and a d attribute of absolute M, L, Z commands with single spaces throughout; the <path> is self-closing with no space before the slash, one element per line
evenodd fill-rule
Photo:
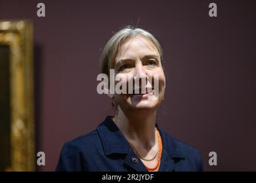
<path fill-rule="evenodd" d="M 152 98 L 149 97 L 152 96 L 149 89 L 151 89 L 151 86 L 154 85 L 154 78 L 157 79 L 154 77 L 154 74 L 158 75 L 159 94 L 155 95 L 156 97 L 152 100 Z M 131 78 L 131 75 L 146 78 L 146 85 L 144 85 L 145 90 L 147 91 L 146 94 L 141 94 L 141 88 L 143 87 L 143 85 L 141 85 L 141 81 L 139 82 L 139 94 L 134 94 L 134 92 L 133 94 L 128 93 L 128 81 L 134 79 L 134 77 Z M 152 85 L 148 80 L 148 75 L 152 75 Z M 116 81 L 116 83 L 124 82 L 124 84 L 127 86 L 127 93 L 115 93 L 114 95 L 117 105 L 119 105 L 123 111 L 129 112 L 134 109 L 154 110 L 157 109 L 163 101 L 166 78 L 164 76 L 162 63 L 160 61 L 160 55 L 156 47 L 153 46 L 153 44 L 147 39 L 136 36 L 135 38 L 129 39 L 121 46 L 115 62 L 115 77 L 118 76 L 126 78 L 124 80 L 122 79 L 121 81 Z M 134 84 L 135 81 L 133 80 L 133 89 L 135 88 Z M 153 89 L 155 90 L 156 88 Z"/>

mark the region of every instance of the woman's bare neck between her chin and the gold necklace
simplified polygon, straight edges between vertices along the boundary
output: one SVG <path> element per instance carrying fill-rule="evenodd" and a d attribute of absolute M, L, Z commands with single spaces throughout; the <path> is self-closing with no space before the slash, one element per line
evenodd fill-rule
<path fill-rule="evenodd" d="M 113 121 L 125 138 L 135 146 L 150 150 L 155 144 L 156 110 L 124 113 L 118 108 Z"/>

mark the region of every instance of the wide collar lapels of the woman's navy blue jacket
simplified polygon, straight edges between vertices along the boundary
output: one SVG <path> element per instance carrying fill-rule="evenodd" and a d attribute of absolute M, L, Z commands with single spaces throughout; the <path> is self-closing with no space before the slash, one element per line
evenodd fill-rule
<path fill-rule="evenodd" d="M 175 149 L 172 137 L 168 138 L 157 124 L 156 127 L 159 129 L 163 143 L 163 151 L 159 171 L 175 171 L 177 162 L 182 160 L 184 157 L 178 149 Z M 105 121 L 98 126 L 97 130 L 103 143 L 103 149 L 106 156 L 115 153 L 124 155 L 126 154 L 126 156 L 124 156 L 124 166 L 127 166 L 127 168 L 131 171 L 147 172 L 143 162 L 135 154 L 135 152 L 133 152 L 123 133 L 121 133 L 110 116 L 108 116 Z"/>

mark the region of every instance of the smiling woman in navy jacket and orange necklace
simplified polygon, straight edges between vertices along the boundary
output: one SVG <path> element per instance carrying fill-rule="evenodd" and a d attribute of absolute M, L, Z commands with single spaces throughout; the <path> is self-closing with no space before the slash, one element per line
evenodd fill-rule
<path fill-rule="evenodd" d="M 128 82 L 132 79 L 135 86 L 139 78 L 139 93 L 135 89 L 132 93 L 108 92 L 115 116 L 105 118 L 93 132 L 66 142 L 56 171 L 203 170 L 198 150 L 175 140 L 156 124 L 166 78 L 163 51 L 155 37 L 131 26 L 118 31 L 101 55 L 101 72 L 109 76 L 110 69 L 115 69 L 115 77 L 125 77 L 120 82 L 127 90 Z M 156 81 L 157 95 L 152 92 Z"/>

